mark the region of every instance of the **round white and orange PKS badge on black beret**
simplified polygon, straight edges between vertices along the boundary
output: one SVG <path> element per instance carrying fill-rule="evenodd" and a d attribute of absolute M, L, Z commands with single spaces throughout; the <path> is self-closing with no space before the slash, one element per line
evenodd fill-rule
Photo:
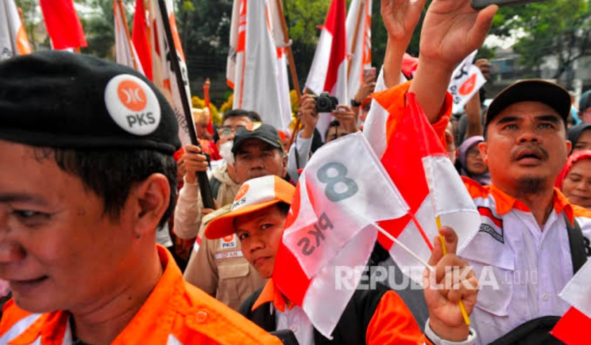
<path fill-rule="evenodd" d="M 160 104 L 152 89 L 134 75 L 113 77 L 105 87 L 105 106 L 126 132 L 147 135 L 160 124 Z"/>

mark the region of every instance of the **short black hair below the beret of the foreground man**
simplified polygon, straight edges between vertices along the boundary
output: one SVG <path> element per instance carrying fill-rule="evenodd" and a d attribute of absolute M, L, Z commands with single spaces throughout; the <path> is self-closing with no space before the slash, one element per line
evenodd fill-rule
<path fill-rule="evenodd" d="M 177 194 L 177 164 L 174 158 L 150 149 L 36 149 L 37 159 L 55 159 L 68 174 L 103 199 L 104 213 L 118 219 L 134 184 L 159 173 L 167 177 L 170 200 L 159 226 L 168 221 Z"/>

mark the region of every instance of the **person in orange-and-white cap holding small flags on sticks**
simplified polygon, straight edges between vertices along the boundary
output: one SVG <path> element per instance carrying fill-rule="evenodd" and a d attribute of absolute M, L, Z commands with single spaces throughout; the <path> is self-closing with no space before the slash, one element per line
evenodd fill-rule
<path fill-rule="evenodd" d="M 283 228 L 287 226 L 288 211 L 293 213 L 295 187 L 278 176 L 263 176 L 242 184 L 232 211 L 212 220 L 205 229 L 208 238 L 236 235 L 244 257 L 262 277 L 271 278 L 265 287 L 255 292 L 241 306 L 240 312 L 267 331 L 293 331 L 299 344 L 474 344 L 476 335 L 464 331 L 468 327 L 461 317 L 454 319 L 449 309 L 457 308 L 457 300 L 464 299 L 470 308 L 476 301 L 474 272 L 460 280 L 452 278 L 447 267 L 466 267 L 466 262 L 454 254 L 457 237 L 451 228 L 444 228 L 449 250 L 443 255 L 441 244 L 436 244 L 430 265 L 434 265 L 436 282 L 451 281 L 459 288 L 436 290 L 429 285 L 425 297 L 431 321 L 425 335 L 414 321 L 402 299 L 384 285 L 375 289 L 355 290 L 332 333 L 332 339 L 320 334 L 310 323 L 308 315 L 296 306 L 273 282 Z M 290 206 L 292 210 L 290 210 Z M 289 221 L 288 221 L 289 222 Z M 335 229 L 337 230 L 337 229 Z M 454 284 L 455 286 L 455 284 Z M 327 289 L 333 287 L 326 287 Z M 274 316 L 273 316 L 274 315 Z M 459 315 L 456 315 L 459 316 Z"/>

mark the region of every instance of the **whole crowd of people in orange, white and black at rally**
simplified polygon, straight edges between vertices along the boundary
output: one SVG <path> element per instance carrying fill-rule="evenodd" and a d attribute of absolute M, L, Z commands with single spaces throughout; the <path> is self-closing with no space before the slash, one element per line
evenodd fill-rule
<path fill-rule="evenodd" d="M 522 80 L 452 115 L 451 75 L 498 7 L 433 0 L 414 78 L 400 80 L 425 2 L 382 0 L 380 75 L 325 133 L 303 95 L 291 145 L 249 110 L 209 137 L 195 110 L 199 145 L 181 147 L 172 108 L 135 70 L 57 51 L 0 63 L 0 344 L 555 344 L 570 307 L 558 294 L 591 256 L 591 91 L 576 109 L 560 85 Z M 283 228 L 319 138 L 362 130 L 372 92 L 392 90 L 388 109 L 416 102 L 432 124 L 481 226 L 461 253 L 441 228 L 423 286 L 356 290 L 325 336 L 273 282 Z M 367 265 L 403 275 L 379 243 Z M 483 271 L 496 287 L 478 288 Z"/>

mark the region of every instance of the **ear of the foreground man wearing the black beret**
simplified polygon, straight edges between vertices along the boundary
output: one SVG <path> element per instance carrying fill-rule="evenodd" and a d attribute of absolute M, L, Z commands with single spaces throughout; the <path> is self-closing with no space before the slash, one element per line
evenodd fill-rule
<path fill-rule="evenodd" d="M 152 174 L 132 187 L 137 199 L 134 235 L 141 237 L 155 234 L 160 219 L 166 212 L 170 199 L 170 186 L 166 176 Z"/>

